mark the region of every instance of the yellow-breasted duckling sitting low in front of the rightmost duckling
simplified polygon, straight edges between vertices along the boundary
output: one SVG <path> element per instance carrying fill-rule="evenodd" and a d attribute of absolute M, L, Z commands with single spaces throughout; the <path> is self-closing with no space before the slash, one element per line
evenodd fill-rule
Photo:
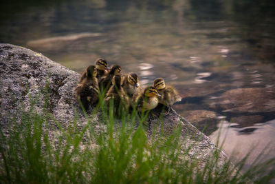
<path fill-rule="evenodd" d="M 147 110 L 153 110 L 159 103 L 157 96 L 160 96 L 157 89 L 153 86 L 148 86 L 144 89 L 142 95 L 137 99 L 137 110 L 139 112 L 145 112 Z"/>

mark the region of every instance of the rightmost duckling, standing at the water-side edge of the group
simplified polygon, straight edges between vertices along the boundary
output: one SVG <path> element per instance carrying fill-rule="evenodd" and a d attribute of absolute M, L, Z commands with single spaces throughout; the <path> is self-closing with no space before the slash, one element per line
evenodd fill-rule
<path fill-rule="evenodd" d="M 160 96 L 158 97 L 159 103 L 168 106 L 168 112 L 165 115 L 169 114 L 171 105 L 177 101 L 181 101 L 181 96 L 179 96 L 177 90 L 172 86 L 165 85 L 164 79 L 157 78 L 153 82 L 153 86 L 157 89 Z"/>

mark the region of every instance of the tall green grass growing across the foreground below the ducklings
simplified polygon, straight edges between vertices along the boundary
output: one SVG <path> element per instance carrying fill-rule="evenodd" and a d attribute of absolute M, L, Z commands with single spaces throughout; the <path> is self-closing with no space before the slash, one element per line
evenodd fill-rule
<path fill-rule="evenodd" d="M 20 118 L 10 118 L 8 134 L 0 131 L 0 183 L 268 183 L 274 179 L 274 159 L 241 174 L 246 157 L 236 167 L 219 163 L 220 150 L 206 159 L 190 159 L 194 144 L 181 134 L 153 131 L 150 138 L 144 117 L 132 114 L 114 118 L 112 104 L 107 111 L 103 99 L 87 125 L 79 127 L 77 114 L 69 127 L 56 121 L 48 105 L 36 112 L 40 98 L 32 98 Z M 45 98 L 45 104 L 47 104 Z M 106 127 L 96 132 L 95 114 Z M 197 140 L 199 141 L 199 139 Z M 184 147 L 184 149 L 183 149 Z M 199 153 L 198 153 L 199 154 Z"/>

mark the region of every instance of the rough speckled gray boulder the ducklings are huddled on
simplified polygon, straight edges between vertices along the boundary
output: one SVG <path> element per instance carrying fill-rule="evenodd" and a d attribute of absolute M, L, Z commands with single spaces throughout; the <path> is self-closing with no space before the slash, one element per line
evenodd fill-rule
<path fill-rule="evenodd" d="M 41 93 L 40 98 L 41 101 L 50 99 L 47 105 L 53 116 L 67 127 L 78 115 L 79 122 L 85 125 L 87 120 L 74 96 L 74 87 L 78 83 L 79 76 L 77 72 L 51 61 L 43 54 L 16 45 L 0 44 L 0 113 L 3 130 L 10 116 L 19 116 L 17 113 L 22 107 L 21 104 L 25 108 L 30 108 L 29 96 L 37 96 L 46 86 L 49 96 Z M 36 104 L 36 110 L 41 111 L 43 105 L 45 104 Z M 100 124 L 104 124 L 98 123 L 98 120 L 98 116 L 92 120 L 96 130 L 100 128 Z M 203 162 L 216 149 L 214 143 L 174 110 L 165 116 L 162 123 L 157 120 L 151 121 L 148 133 L 150 134 L 155 127 L 160 131 L 162 126 L 166 134 L 171 134 L 173 127 L 183 127 L 182 136 L 187 140 L 187 144 L 182 145 L 182 149 L 192 145 L 189 152 L 190 159 L 200 159 L 203 168 Z M 227 161 L 227 157 L 221 152 L 220 164 L 224 161 Z"/>

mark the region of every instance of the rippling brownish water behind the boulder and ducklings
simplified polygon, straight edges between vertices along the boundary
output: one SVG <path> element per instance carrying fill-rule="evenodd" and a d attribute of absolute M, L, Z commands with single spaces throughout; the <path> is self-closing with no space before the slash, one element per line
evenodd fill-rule
<path fill-rule="evenodd" d="M 77 72 L 104 57 L 137 72 L 143 85 L 163 77 L 183 97 L 173 108 L 199 130 L 207 124 L 212 140 L 230 126 L 224 150 L 242 147 L 233 156 L 239 160 L 256 143 L 256 153 L 274 147 L 274 7 L 260 0 L 10 1 L 0 9 L 0 42 Z"/>

